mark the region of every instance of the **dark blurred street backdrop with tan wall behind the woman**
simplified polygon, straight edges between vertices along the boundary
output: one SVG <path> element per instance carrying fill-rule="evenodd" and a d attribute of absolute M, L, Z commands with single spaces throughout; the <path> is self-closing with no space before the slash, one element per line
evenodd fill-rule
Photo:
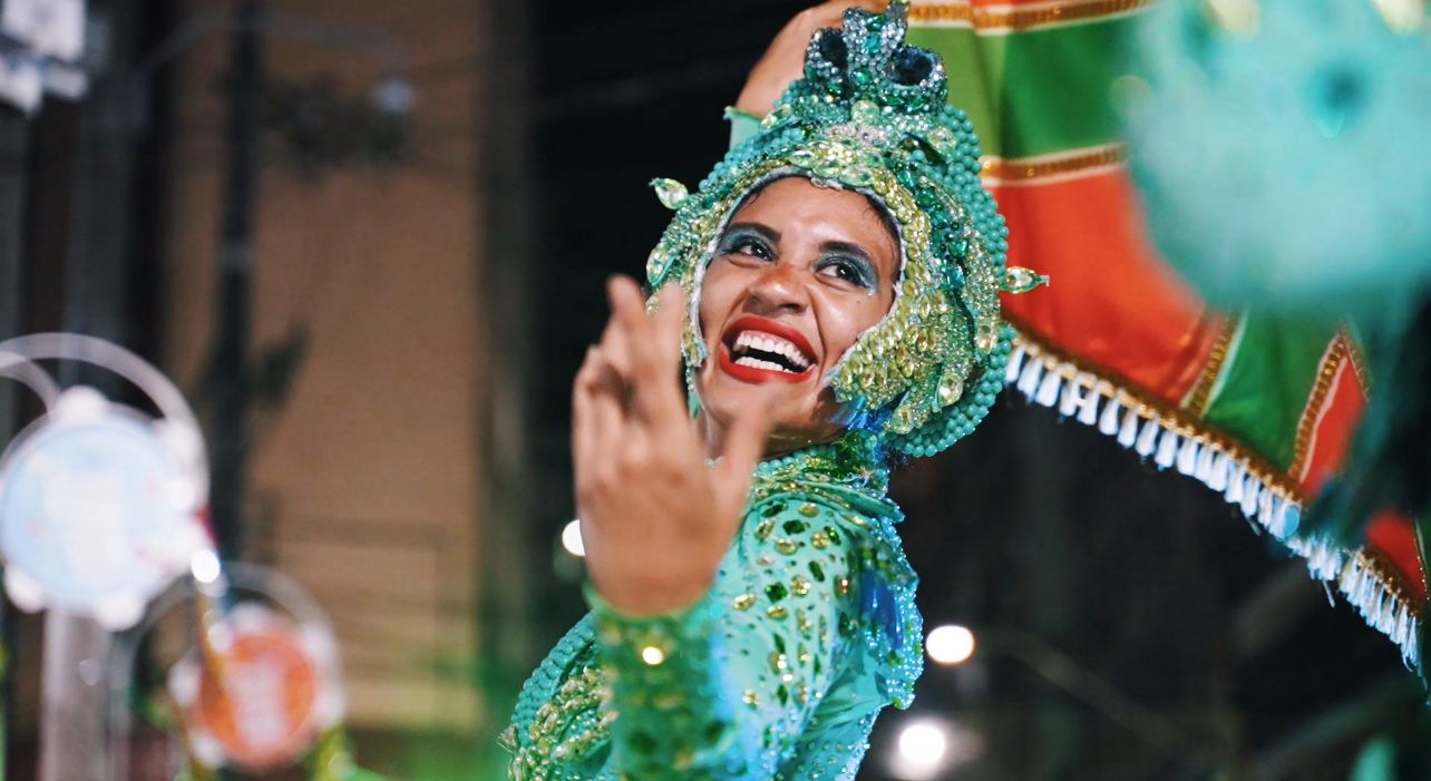
<path fill-rule="evenodd" d="M 361 765 L 505 777 L 584 611 L 568 398 L 602 280 L 804 6 L 90 0 L 83 94 L 0 106 L 3 335 L 103 336 L 187 392 L 226 554 L 333 622 Z M 861 778 L 1431 778 L 1395 647 L 1195 481 L 1009 395 L 894 496 L 927 627 L 962 629 Z M 40 621 L 4 631 L 30 778 Z"/>

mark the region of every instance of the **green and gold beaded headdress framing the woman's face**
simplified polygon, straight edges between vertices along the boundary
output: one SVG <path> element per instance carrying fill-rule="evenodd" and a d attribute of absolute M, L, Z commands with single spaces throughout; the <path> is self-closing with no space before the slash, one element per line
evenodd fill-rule
<path fill-rule="evenodd" d="M 737 144 L 694 193 L 654 182 L 675 209 L 647 260 L 653 289 L 680 283 L 691 300 L 687 378 L 705 360 L 697 305 L 705 265 L 748 193 L 783 176 L 856 190 L 881 205 L 900 239 L 889 315 L 829 375 L 856 426 L 894 451 L 933 455 L 983 419 L 1003 386 L 1012 330 L 999 292 L 1040 279 L 1006 269 L 1007 229 L 979 182 L 979 142 L 947 102 L 944 66 L 904 43 L 907 3 L 884 14 L 851 9 L 844 29 L 820 30 L 804 77 L 776 103 L 761 132 Z"/>

